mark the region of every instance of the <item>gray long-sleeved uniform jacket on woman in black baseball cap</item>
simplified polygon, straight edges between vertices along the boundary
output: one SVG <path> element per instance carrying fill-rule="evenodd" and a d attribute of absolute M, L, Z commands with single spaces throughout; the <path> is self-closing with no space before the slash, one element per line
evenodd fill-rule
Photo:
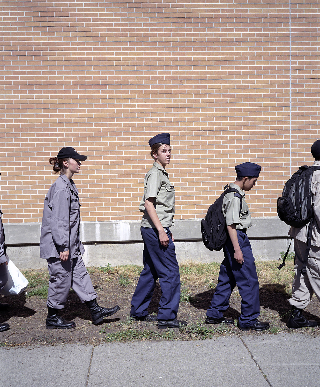
<path fill-rule="evenodd" d="M 69 250 L 69 258 L 84 253 L 79 239 L 80 203 L 75 183 L 60 175 L 51 185 L 44 199 L 40 236 L 40 257 L 59 258 L 60 252 Z"/>

